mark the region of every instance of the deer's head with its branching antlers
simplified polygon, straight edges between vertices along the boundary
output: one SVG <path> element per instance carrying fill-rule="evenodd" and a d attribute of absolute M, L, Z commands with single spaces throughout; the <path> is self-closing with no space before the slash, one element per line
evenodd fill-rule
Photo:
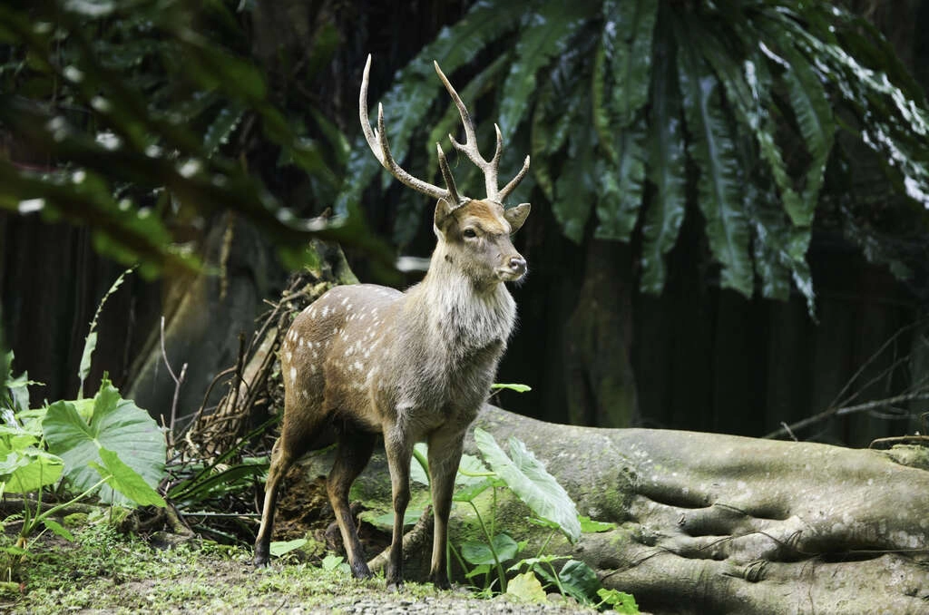
<path fill-rule="evenodd" d="M 438 62 L 433 62 L 438 78 L 445 85 L 458 107 L 464 124 L 464 143 L 460 143 L 449 135 L 451 145 L 461 151 L 468 159 L 478 166 L 484 174 L 484 183 L 487 187 L 487 196 L 484 199 L 471 199 L 461 194 L 455 187 L 451 169 L 445 159 L 445 152 L 440 144 L 438 150 L 438 166 L 445 180 L 445 188 L 439 188 L 422 179 L 412 177 L 394 160 L 387 143 L 384 128 L 384 108 L 377 106 L 377 130 L 371 127 L 368 117 L 368 74 L 371 70 L 371 56 L 364 66 L 364 76 L 361 80 L 361 94 L 359 98 L 359 115 L 361 129 L 368 141 L 368 146 L 391 175 L 397 177 L 401 183 L 413 190 L 437 199 L 436 211 L 433 216 L 433 229 L 436 233 L 438 245 L 433 256 L 459 268 L 464 274 L 478 285 L 491 285 L 502 281 L 517 281 L 527 271 L 526 259 L 520 255 L 510 236 L 515 233 L 526 217 L 529 216 L 530 204 L 520 203 L 516 207 L 504 208 L 504 199 L 512 192 L 517 184 L 529 172 L 530 159 L 526 156 L 522 169 L 516 177 L 500 189 L 497 184 L 497 173 L 500 165 L 500 155 L 503 151 L 503 137 L 500 126 L 494 124 L 497 135 L 497 148 L 490 161 L 481 156 L 478 151 L 477 137 L 475 136 L 474 122 L 464 107 L 464 102 L 449 83 L 448 78 L 438 68 Z"/>

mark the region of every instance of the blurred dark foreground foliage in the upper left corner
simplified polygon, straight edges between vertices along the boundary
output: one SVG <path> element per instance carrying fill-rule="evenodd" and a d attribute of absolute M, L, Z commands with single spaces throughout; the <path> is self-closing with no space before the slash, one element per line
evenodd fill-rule
<path fill-rule="evenodd" d="M 360 218 L 301 216 L 331 203 L 346 138 L 312 103 L 278 104 L 252 59 L 250 3 L 42 2 L 0 7 L 0 207 L 86 225 L 98 250 L 145 275 L 198 268 L 191 235 L 233 210 L 264 230 L 285 264 L 310 237 L 391 262 Z M 335 36 L 335 39 L 334 39 Z M 330 27 L 306 49 L 331 57 Z M 274 153 L 268 156 L 268 153 Z M 277 160 L 250 168 L 250 158 Z M 307 202 L 266 182 L 293 167 Z"/>

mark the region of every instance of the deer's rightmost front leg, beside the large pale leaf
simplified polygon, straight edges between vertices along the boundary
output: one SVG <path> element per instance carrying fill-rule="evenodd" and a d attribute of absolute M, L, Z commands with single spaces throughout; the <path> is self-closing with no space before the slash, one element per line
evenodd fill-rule
<path fill-rule="evenodd" d="M 450 589 L 447 542 L 451 494 L 462 457 L 464 433 L 434 433 L 429 437 L 429 480 L 432 484 L 434 532 L 429 579 L 438 589 Z"/>

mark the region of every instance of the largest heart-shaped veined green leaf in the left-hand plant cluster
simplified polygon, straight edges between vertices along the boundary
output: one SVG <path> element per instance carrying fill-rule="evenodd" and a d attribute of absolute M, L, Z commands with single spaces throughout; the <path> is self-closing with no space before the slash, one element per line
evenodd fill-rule
<path fill-rule="evenodd" d="M 152 488 L 164 478 L 164 436 L 154 419 L 104 379 L 94 398 L 89 424 L 70 401 L 57 401 L 48 408 L 43 421 L 48 450 L 65 464 L 65 478 L 77 491 L 98 482 L 90 463 L 103 464 L 100 450 L 113 451 Z M 127 503 L 128 499 L 102 487 L 104 501 Z"/>

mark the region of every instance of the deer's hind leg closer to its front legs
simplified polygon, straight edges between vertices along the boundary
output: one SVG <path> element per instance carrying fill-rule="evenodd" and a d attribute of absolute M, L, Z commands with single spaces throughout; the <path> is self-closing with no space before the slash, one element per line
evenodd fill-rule
<path fill-rule="evenodd" d="M 365 561 L 364 549 L 358 537 L 358 528 L 348 507 L 348 490 L 361 474 L 361 470 L 371 459 L 376 436 L 358 428 L 347 427 L 339 433 L 338 448 L 335 451 L 335 463 L 326 480 L 329 502 L 333 505 L 335 522 L 342 533 L 342 543 L 348 556 L 348 565 L 352 574 L 358 579 L 371 576 Z"/>

